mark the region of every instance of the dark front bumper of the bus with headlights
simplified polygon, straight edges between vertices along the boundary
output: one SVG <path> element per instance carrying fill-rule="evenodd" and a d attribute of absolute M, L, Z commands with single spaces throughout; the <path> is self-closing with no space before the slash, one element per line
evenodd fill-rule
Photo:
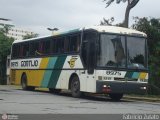
<path fill-rule="evenodd" d="M 96 82 L 97 93 L 125 93 L 125 94 L 145 94 L 147 83 L 140 82 L 119 82 L 119 81 L 100 81 Z"/>

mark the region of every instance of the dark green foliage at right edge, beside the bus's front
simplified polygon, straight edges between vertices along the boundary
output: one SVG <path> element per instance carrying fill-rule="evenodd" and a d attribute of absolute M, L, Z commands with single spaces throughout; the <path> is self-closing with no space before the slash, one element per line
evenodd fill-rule
<path fill-rule="evenodd" d="M 149 48 L 150 94 L 160 94 L 160 20 L 135 17 L 134 29 L 147 34 Z"/>

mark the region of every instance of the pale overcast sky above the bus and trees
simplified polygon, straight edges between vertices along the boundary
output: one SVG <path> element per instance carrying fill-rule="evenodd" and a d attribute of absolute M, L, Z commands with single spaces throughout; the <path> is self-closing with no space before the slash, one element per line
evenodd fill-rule
<path fill-rule="evenodd" d="M 103 18 L 124 20 L 127 3 L 112 3 L 105 8 L 103 0 L 0 0 L 0 18 L 11 19 L 16 27 L 39 36 L 50 35 L 47 28 L 60 31 L 99 25 Z M 133 16 L 160 18 L 160 0 L 140 0 L 130 12 Z"/>

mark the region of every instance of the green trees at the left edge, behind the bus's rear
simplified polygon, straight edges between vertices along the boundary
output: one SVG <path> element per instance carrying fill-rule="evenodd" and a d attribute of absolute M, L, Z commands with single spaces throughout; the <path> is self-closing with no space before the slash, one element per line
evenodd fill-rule
<path fill-rule="evenodd" d="M 10 54 L 13 38 L 7 37 L 0 31 L 0 84 L 6 84 L 6 59 Z"/>

